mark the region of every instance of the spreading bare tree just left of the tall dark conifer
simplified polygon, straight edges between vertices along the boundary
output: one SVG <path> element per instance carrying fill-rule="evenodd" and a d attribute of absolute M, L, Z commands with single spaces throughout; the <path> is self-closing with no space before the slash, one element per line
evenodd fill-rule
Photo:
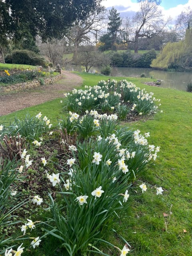
<path fill-rule="evenodd" d="M 76 62 L 78 47 L 80 44 L 95 42 L 97 43 L 100 30 L 104 27 L 104 20 L 106 19 L 106 10 L 102 10 L 99 14 L 89 14 L 86 20 L 76 22 L 66 39 L 69 45 L 74 46 L 73 60 Z M 94 37 L 94 39 L 92 38 Z"/>

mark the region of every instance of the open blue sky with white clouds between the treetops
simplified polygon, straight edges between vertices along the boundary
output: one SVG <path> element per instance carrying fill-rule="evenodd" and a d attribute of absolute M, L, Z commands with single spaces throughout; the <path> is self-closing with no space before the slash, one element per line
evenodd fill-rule
<path fill-rule="evenodd" d="M 114 6 L 120 16 L 133 16 L 138 11 L 137 0 L 103 0 L 102 5 L 107 9 Z M 162 0 L 160 4 L 163 14 L 166 17 L 172 17 L 172 24 L 174 24 L 182 10 L 188 6 L 192 9 L 192 0 Z"/>

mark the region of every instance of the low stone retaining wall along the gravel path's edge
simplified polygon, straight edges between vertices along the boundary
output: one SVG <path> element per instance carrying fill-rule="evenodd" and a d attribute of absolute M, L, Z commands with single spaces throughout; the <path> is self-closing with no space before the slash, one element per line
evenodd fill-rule
<path fill-rule="evenodd" d="M 45 84 L 52 84 L 53 82 L 56 82 L 62 78 L 62 75 L 59 74 L 57 76 L 49 77 L 44 79 Z M 25 89 L 32 89 L 41 86 L 40 81 L 38 80 L 33 80 L 30 82 L 23 82 L 19 84 L 12 84 L 9 86 L 0 86 L 0 92 L 18 92 L 20 90 L 25 90 Z"/>

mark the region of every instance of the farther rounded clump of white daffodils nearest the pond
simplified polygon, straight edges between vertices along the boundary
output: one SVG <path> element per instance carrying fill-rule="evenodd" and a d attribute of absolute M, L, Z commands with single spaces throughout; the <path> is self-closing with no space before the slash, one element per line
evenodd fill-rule
<path fill-rule="evenodd" d="M 74 89 L 72 93 L 65 96 L 68 110 L 78 114 L 91 109 L 98 110 L 100 113 L 118 114 L 122 111 L 119 108 L 121 105 L 127 106 L 126 114 L 129 111 L 136 115 L 153 114 L 158 110 L 156 102 L 160 101 L 153 97 L 152 92 L 147 93 L 145 89 L 141 90 L 126 80 L 120 82 L 101 80 L 96 86 L 85 86 L 84 90 Z"/>

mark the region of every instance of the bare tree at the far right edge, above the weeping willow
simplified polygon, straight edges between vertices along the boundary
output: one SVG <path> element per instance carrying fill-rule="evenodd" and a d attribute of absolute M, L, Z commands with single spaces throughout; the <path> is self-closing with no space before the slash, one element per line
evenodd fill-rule
<path fill-rule="evenodd" d="M 185 37 L 186 30 L 192 27 L 192 10 L 190 6 L 181 12 L 176 21 L 176 29 L 182 38 Z"/>

